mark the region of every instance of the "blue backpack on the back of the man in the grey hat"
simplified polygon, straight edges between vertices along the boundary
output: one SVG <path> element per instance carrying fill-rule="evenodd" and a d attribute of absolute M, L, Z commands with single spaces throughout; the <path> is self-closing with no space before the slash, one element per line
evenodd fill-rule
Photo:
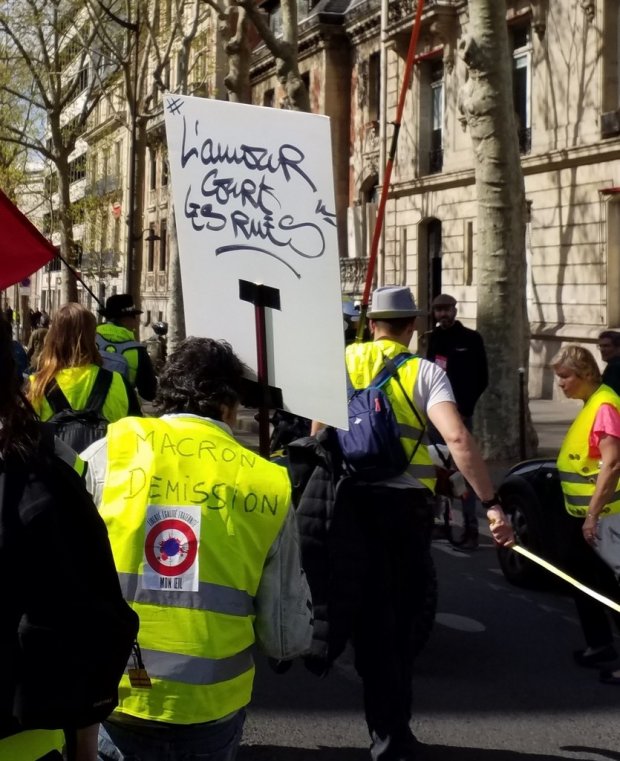
<path fill-rule="evenodd" d="M 411 458 L 400 440 L 392 405 L 383 390 L 400 365 L 413 358 L 410 352 L 390 360 L 366 386 L 355 389 L 347 374 L 349 430 L 337 429 L 343 465 L 348 475 L 362 481 L 382 481 L 403 473 Z M 387 360 L 386 360 L 387 362 Z"/>

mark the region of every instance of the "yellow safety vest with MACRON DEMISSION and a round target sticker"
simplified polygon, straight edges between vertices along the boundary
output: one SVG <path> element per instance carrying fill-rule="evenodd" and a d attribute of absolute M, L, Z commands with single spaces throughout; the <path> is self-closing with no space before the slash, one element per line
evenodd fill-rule
<path fill-rule="evenodd" d="M 288 474 L 193 416 L 125 418 L 107 442 L 100 510 L 153 685 L 123 676 L 117 710 L 227 716 L 251 698 L 255 596 L 290 509 Z"/>

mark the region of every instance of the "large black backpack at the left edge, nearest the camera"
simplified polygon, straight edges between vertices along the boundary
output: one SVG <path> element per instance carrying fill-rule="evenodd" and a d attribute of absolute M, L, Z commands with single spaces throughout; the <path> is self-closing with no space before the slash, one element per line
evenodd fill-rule
<path fill-rule="evenodd" d="M 0 460 L 0 573 L 12 579 L 0 620 L 0 704 L 15 729 L 105 719 L 118 705 L 138 616 L 123 599 L 105 523 L 54 454 L 51 432 L 27 465 Z"/>

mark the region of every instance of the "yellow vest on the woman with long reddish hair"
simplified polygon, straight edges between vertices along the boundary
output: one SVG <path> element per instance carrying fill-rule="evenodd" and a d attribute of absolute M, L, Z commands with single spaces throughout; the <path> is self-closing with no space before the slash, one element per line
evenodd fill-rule
<path fill-rule="evenodd" d="M 59 370 L 56 373 L 54 380 L 74 410 L 83 410 L 86 407 L 86 402 L 95 385 L 98 372 L 98 365 L 82 365 L 81 367 L 66 367 L 64 370 Z M 33 377 L 31 376 L 31 380 Z M 45 397 L 35 399 L 33 407 L 43 422 L 49 420 L 54 415 Z M 112 377 L 112 383 L 103 404 L 102 413 L 104 418 L 111 423 L 129 414 L 127 389 L 125 388 L 123 376 L 119 373 L 114 373 Z"/>

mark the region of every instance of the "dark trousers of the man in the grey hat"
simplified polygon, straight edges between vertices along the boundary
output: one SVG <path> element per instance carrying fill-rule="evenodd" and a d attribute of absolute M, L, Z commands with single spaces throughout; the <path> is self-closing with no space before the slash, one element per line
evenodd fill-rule
<path fill-rule="evenodd" d="M 409 729 L 414 632 L 428 583 L 432 527 L 425 494 L 352 486 L 338 500 L 332 524 L 340 547 L 333 553 L 336 583 L 347 585 L 342 591 L 349 600 L 353 594 L 350 638 L 375 760 L 411 758 L 415 742 Z"/>

